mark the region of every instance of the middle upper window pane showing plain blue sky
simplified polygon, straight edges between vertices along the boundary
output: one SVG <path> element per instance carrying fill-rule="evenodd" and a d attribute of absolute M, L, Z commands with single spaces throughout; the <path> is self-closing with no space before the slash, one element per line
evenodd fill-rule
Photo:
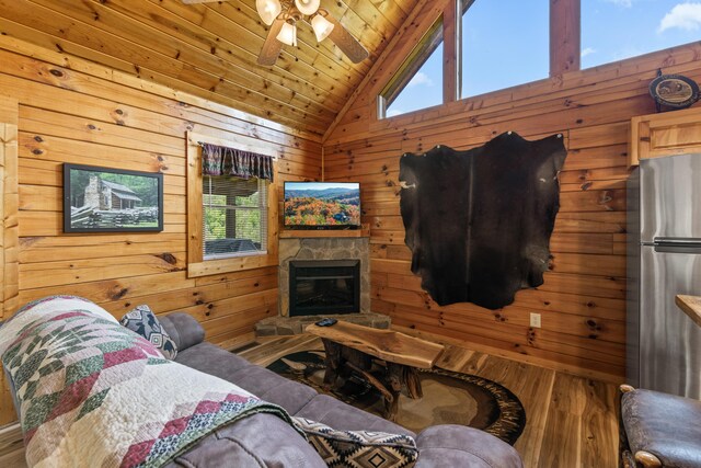
<path fill-rule="evenodd" d="M 462 96 L 548 78 L 550 0 L 463 0 Z"/>

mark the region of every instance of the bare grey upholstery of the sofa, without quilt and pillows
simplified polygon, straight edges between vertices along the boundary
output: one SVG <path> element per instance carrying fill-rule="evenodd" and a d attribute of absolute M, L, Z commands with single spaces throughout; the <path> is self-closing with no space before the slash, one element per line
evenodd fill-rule
<path fill-rule="evenodd" d="M 186 313 L 159 317 L 177 346 L 175 362 L 231 381 L 290 415 L 313 420 L 342 431 L 406 434 L 416 440 L 416 468 L 521 467 L 510 445 L 463 425 L 436 425 L 420 434 L 320 395 L 205 340 L 199 323 Z M 168 467 L 325 467 L 314 448 L 288 424 L 271 414 L 254 414 L 207 435 Z"/>

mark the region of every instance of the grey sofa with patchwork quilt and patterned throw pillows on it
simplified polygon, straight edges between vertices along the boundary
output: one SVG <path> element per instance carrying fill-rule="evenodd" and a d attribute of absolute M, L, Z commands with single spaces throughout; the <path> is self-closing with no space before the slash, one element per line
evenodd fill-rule
<path fill-rule="evenodd" d="M 463 425 L 414 434 L 205 342 L 186 313 L 137 306 L 120 322 L 76 296 L 0 324 L 30 466 L 521 467 Z"/>

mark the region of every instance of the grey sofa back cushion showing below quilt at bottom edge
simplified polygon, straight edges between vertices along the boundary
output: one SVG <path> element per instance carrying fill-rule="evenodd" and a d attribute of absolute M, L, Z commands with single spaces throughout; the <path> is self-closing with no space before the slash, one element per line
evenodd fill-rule
<path fill-rule="evenodd" d="M 299 433 L 279 418 L 255 414 L 217 430 L 168 468 L 325 468 Z"/>

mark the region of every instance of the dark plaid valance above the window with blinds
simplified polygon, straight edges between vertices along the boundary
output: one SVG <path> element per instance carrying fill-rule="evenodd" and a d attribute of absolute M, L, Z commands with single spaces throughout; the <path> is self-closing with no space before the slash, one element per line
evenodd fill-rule
<path fill-rule="evenodd" d="M 255 152 L 200 142 L 203 175 L 234 175 L 237 178 L 269 179 L 273 181 L 273 158 Z"/>

